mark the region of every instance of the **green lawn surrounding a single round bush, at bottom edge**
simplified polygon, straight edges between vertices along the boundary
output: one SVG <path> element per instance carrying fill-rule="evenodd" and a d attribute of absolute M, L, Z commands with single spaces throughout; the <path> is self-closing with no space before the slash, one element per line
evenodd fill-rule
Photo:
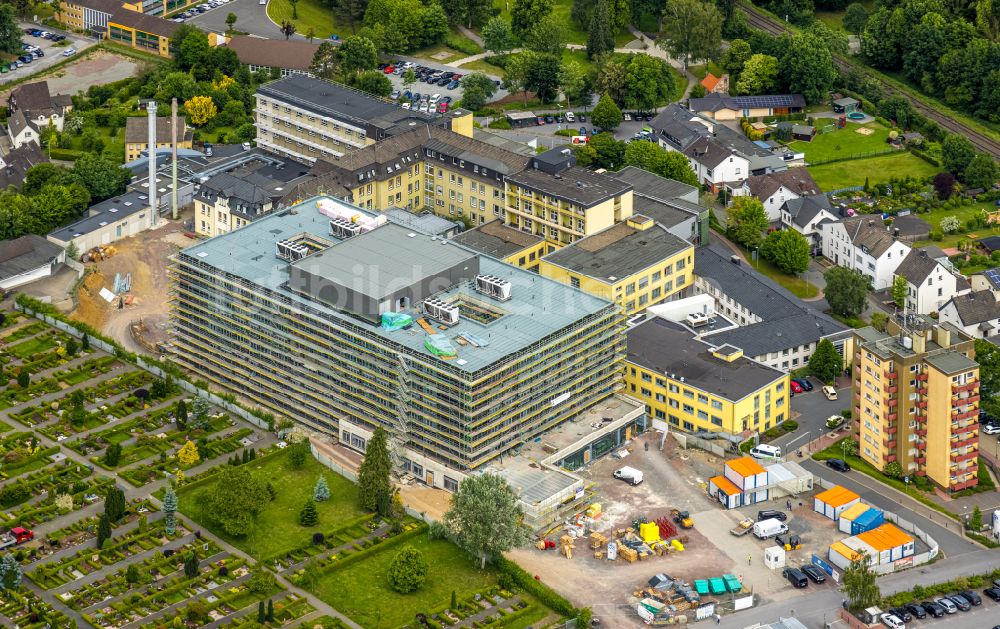
<path fill-rule="evenodd" d="M 389 564 L 404 545 L 422 551 L 430 566 L 424 585 L 411 594 L 399 594 L 387 578 Z M 313 592 L 364 627 L 401 627 L 417 612 L 447 607 L 452 591 L 462 598 L 495 583 L 491 570 L 478 570 L 473 558 L 451 542 L 418 535 L 327 572 Z"/>

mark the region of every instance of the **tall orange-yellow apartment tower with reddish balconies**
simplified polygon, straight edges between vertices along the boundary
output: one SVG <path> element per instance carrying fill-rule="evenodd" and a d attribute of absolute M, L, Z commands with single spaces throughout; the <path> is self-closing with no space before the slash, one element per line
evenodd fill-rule
<path fill-rule="evenodd" d="M 855 330 L 852 413 L 858 455 L 898 463 L 950 491 L 978 483 L 979 365 L 975 341 L 929 317 Z"/>

